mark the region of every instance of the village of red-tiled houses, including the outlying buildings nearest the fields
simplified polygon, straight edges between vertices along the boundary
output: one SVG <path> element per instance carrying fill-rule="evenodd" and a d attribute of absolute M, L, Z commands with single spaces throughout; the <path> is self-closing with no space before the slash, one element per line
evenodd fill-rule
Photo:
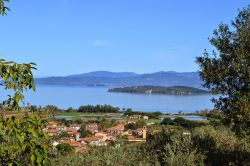
<path fill-rule="evenodd" d="M 49 121 L 44 131 L 51 137 L 52 144 L 56 147 L 59 144 L 68 144 L 79 153 L 88 153 L 95 146 L 106 146 L 111 143 L 138 143 L 146 142 L 147 127 L 140 126 L 136 129 L 128 129 L 127 126 L 135 125 L 136 120 L 148 119 L 147 116 L 131 115 L 125 120 L 115 120 L 113 126 L 107 129 L 100 129 L 97 122 L 86 122 L 83 124 L 72 123 L 66 126 L 60 120 Z M 80 130 L 89 134 L 84 136 Z"/>

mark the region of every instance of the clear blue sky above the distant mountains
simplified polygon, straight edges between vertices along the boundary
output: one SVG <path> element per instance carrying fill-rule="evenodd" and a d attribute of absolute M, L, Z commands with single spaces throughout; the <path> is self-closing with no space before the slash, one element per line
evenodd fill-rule
<path fill-rule="evenodd" d="M 36 76 L 197 71 L 208 37 L 247 0 L 22 0 L 0 17 L 0 57 Z"/>

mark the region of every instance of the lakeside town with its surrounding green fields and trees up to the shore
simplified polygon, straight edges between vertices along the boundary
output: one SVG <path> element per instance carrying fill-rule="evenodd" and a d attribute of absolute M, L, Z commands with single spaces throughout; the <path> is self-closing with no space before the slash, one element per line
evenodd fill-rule
<path fill-rule="evenodd" d="M 31 108 L 33 111 L 38 109 L 36 106 Z M 98 146 L 146 142 L 147 136 L 161 132 L 163 128 L 181 130 L 184 135 L 189 135 L 192 128 L 207 125 L 208 119 L 220 114 L 217 110 L 203 110 L 196 114 L 136 112 L 131 109 L 119 112 L 119 108 L 109 105 L 81 106 L 78 110 L 47 106 L 43 108 L 45 110 L 51 116 L 43 130 L 50 136 L 53 147 L 64 151 L 65 147 L 60 146 L 69 145 L 79 153 L 88 153 Z"/>

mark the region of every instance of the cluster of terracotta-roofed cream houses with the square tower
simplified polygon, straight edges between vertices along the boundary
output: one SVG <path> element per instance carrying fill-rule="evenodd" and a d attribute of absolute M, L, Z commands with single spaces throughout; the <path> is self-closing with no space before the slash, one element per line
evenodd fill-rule
<path fill-rule="evenodd" d="M 127 136 L 127 141 L 130 142 L 145 142 L 146 141 L 146 127 L 138 128 L 136 130 L 125 131 L 124 122 L 118 122 L 116 126 L 106 129 L 105 131 L 99 131 L 97 123 L 89 123 L 86 125 L 85 130 L 92 133 L 91 136 L 82 138 L 79 129 L 80 124 L 72 124 L 69 127 L 59 124 L 58 122 L 51 121 L 48 126 L 44 128 L 44 131 L 49 136 L 54 136 L 55 140 L 53 146 L 57 146 L 60 143 L 67 143 L 74 147 L 76 152 L 86 153 L 90 150 L 90 146 L 103 146 L 108 145 L 112 141 L 117 141 L 118 136 Z M 67 133 L 67 137 L 60 137 L 56 139 L 60 133 Z M 139 138 L 135 137 L 139 136 Z"/>

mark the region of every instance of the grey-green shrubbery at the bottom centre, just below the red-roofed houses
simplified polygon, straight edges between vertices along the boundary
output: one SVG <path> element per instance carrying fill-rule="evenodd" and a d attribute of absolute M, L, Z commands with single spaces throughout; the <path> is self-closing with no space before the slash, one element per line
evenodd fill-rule
<path fill-rule="evenodd" d="M 54 162 L 58 166 L 117 166 L 117 165 L 136 165 L 152 166 L 159 165 L 152 160 L 150 156 L 144 156 L 139 146 L 127 145 L 120 148 L 115 147 L 97 147 L 89 154 L 76 154 L 74 156 L 60 156 L 55 158 Z M 154 162 L 154 163 L 152 163 Z"/>

